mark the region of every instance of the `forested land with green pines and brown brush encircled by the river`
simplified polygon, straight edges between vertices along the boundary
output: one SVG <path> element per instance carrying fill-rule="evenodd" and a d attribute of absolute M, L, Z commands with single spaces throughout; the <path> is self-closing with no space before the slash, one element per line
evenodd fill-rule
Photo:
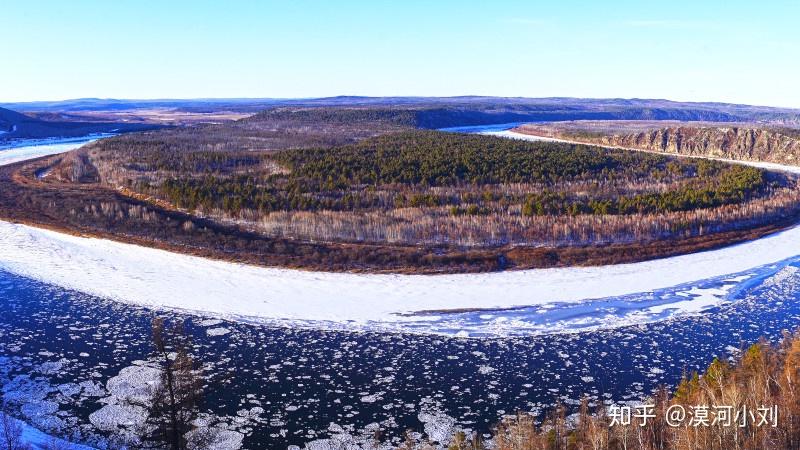
<path fill-rule="evenodd" d="M 430 114 L 280 107 L 120 135 L 4 168 L 0 215 L 255 264 L 440 273 L 639 261 L 800 214 L 791 175 L 420 129 Z"/>

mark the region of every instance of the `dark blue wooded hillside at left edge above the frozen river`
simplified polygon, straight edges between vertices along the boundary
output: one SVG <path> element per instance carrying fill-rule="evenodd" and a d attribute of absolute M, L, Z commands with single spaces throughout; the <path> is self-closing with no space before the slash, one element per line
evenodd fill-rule
<path fill-rule="evenodd" d="M 0 108 L 0 140 L 76 137 L 92 133 L 152 130 L 153 125 L 114 122 L 50 122 Z"/>

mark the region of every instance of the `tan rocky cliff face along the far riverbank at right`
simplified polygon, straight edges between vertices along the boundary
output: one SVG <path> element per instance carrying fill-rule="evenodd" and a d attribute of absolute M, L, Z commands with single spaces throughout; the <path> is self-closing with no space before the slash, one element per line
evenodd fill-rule
<path fill-rule="evenodd" d="M 592 144 L 652 150 L 677 155 L 800 165 L 795 132 L 754 127 L 677 126 L 635 132 L 582 133 L 577 129 L 526 126 L 519 131 Z"/>

